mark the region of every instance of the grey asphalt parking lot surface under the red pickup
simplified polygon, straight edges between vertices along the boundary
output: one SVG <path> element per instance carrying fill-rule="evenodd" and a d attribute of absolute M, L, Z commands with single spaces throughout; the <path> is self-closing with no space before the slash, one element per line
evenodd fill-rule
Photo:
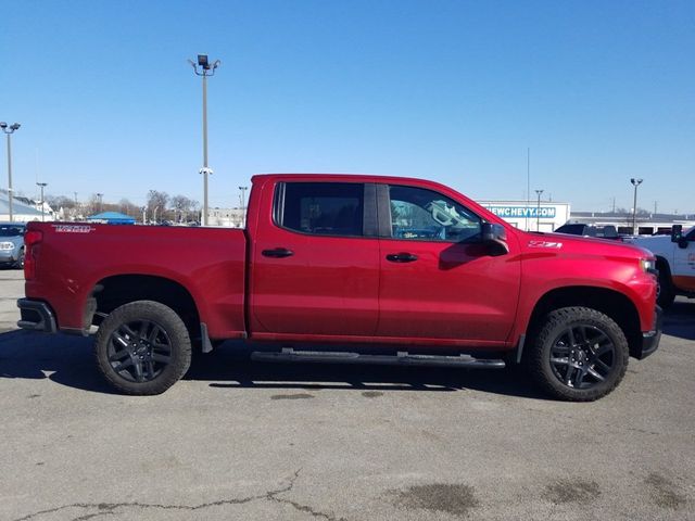
<path fill-rule="evenodd" d="M 695 519 L 695 301 L 589 404 L 515 371 L 263 365 L 224 344 L 161 396 L 91 340 L 16 330 L 0 270 L 2 520 Z"/>

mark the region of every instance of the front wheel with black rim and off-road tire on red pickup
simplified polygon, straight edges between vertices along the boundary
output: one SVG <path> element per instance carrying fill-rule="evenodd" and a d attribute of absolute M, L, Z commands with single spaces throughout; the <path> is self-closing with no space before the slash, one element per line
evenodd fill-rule
<path fill-rule="evenodd" d="M 610 317 L 587 307 L 564 307 L 545 317 L 526 364 L 552 396 L 591 402 L 616 389 L 629 356 L 626 335 Z"/>

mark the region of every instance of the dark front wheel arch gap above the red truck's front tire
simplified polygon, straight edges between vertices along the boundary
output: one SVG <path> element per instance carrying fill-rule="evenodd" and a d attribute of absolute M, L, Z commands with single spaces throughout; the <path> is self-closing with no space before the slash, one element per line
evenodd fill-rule
<path fill-rule="evenodd" d="M 615 320 L 628 340 L 630 355 L 636 356 L 642 346 L 637 308 L 628 296 L 606 288 L 566 287 L 548 291 L 535 304 L 527 334 L 532 338 L 552 310 L 572 306 L 590 307 Z"/>

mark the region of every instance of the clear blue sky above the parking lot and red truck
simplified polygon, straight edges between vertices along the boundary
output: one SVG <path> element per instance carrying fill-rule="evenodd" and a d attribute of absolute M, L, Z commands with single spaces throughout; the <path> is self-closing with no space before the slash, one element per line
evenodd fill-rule
<path fill-rule="evenodd" d="M 202 202 L 207 53 L 211 206 L 301 171 L 595 212 L 642 178 L 639 207 L 695 213 L 693 0 L 8 0 L 0 28 L 25 195 Z"/>

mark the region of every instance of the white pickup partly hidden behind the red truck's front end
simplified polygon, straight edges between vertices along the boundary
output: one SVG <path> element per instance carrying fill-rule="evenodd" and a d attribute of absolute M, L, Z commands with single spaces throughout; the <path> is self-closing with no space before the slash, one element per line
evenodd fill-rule
<path fill-rule="evenodd" d="M 670 237 L 634 237 L 626 242 L 646 247 L 656 256 L 659 306 L 669 307 L 675 295 L 695 298 L 695 227 L 683 232 L 681 225 L 674 225 Z"/>

